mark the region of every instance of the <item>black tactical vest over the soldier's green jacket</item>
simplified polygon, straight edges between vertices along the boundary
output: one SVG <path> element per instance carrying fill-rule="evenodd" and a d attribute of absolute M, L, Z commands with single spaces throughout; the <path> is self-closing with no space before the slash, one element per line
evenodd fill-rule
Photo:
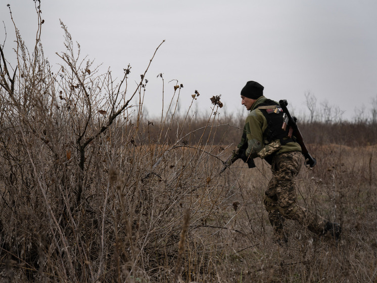
<path fill-rule="evenodd" d="M 263 138 L 265 141 L 267 141 L 266 144 L 269 144 L 274 140 L 280 140 L 281 145 L 296 141 L 293 136 L 291 138 L 288 137 L 288 126 L 286 129 L 282 128 L 284 123 L 284 113 L 277 102 L 267 99 L 263 103 L 259 104 L 257 109 L 263 113 L 267 120 L 267 128 L 263 133 Z"/>

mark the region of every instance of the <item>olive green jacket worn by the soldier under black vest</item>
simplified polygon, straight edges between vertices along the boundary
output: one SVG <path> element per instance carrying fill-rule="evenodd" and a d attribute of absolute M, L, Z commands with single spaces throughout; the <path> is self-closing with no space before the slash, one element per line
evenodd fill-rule
<path fill-rule="evenodd" d="M 245 143 L 247 143 L 246 156 L 249 156 L 249 158 L 258 156 L 265 158 L 269 155 L 268 152 L 281 154 L 289 151 L 301 151 L 301 146 L 297 142 L 289 142 L 285 145 L 280 145 L 278 140 L 267 142 L 264 135 L 267 129 L 267 120 L 262 111 L 258 109 L 258 105 L 266 101 L 266 99 L 264 96 L 259 97 L 251 107 L 250 113 L 246 117 L 243 137 L 237 147 L 246 147 Z M 276 105 L 278 105 L 277 102 Z M 272 150 L 271 145 L 274 147 Z"/>

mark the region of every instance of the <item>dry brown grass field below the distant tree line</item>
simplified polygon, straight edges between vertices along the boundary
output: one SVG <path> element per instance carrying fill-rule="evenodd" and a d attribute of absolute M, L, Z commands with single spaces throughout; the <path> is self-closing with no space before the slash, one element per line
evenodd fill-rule
<path fill-rule="evenodd" d="M 2 147 L 3 280 L 172 282 L 177 270 L 183 282 L 376 280 L 374 146 L 311 146 L 318 164 L 302 168 L 299 201 L 340 222 L 342 239 L 289 221 L 281 246 L 261 201 L 264 161 L 219 175 L 230 149 L 100 140 L 79 204 L 73 153 L 52 160 L 33 138 L 6 160 Z"/>

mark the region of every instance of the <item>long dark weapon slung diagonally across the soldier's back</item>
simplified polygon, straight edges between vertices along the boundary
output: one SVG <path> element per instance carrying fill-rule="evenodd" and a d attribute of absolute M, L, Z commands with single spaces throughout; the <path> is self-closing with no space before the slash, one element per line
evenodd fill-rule
<path fill-rule="evenodd" d="M 287 100 L 285 100 L 285 99 L 279 100 L 279 104 L 280 104 L 281 109 L 283 110 L 283 113 L 286 114 L 286 116 L 284 116 L 285 120 L 284 120 L 282 128 L 284 128 L 288 125 L 293 130 L 292 133 L 290 131 L 289 135 L 293 134 L 296 137 L 297 143 L 301 146 L 302 155 L 304 155 L 304 157 L 305 157 L 305 165 L 309 165 L 310 167 L 314 167 L 317 164 L 317 160 L 315 160 L 315 158 L 310 155 L 308 149 L 306 148 L 306 145 L 305 145 L 304 140 L 302 138 L 299 127 L 296 124 L 297 118 L 292 117 L 291 114 L 289 113 L 289 111 L 287 109 L 287 105 L 288 105 Z"/>

